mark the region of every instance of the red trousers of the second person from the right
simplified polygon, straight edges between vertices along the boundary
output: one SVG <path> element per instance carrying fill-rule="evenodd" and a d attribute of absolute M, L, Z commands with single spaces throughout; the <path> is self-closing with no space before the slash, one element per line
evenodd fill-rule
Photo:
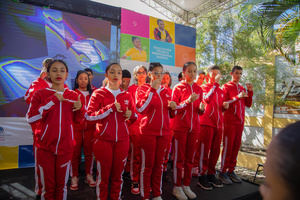
<path fill-rule="evenodd" d="M 222 126 L 221 126 L 222 127 Z M 200 126 L 199 174 L 216 174 L 216 164 L 220 154 L 222 128 Z"/>

